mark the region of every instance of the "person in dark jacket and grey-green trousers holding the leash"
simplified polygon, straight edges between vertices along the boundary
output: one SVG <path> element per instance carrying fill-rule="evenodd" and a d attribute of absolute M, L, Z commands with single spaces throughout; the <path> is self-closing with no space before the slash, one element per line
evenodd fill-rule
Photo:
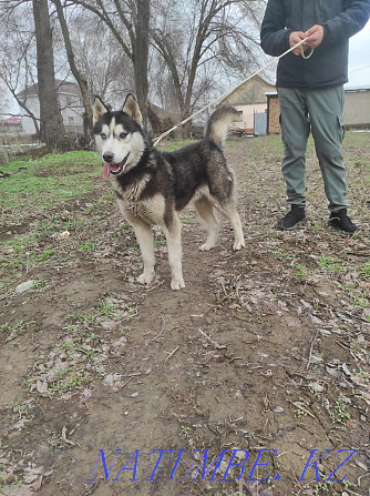
<path fill-rule="evenodd" d="M 284 142 L 282 175 L 290 211 L 278 227 L 294 230 L 306 221 L 305 153 L 312 132 L 329 201 L 328 225 L 352 234 L 347 214 L 341 152 L 343 84 L 348 81 L 349 38 L 370 17 L 370 0 L 268 0 L 260 45 L 273 57 L 307 39 L 279 59 L 277 91 Z"/>

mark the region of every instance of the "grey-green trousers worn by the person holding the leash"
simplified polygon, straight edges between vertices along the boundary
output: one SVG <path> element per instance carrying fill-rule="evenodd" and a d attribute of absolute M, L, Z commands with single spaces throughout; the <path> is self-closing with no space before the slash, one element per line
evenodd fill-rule
<path fill-rule="evenodd" d="M 316 154 L 323 179 L 329 210 L 346 209 L 345 162 L 341 153 L 343 130 L 343 87 L 315 90 L 278 88 L 284 159 L 281 170 L 287 184 L 287 202 L 306 204 L 306 148 L 312 131 Z"/>

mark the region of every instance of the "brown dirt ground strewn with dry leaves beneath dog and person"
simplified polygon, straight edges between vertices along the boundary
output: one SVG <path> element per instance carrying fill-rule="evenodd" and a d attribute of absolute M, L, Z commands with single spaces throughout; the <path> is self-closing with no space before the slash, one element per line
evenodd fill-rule
<path fill-rule="evenodd" d="M 279 136 L 228 144 L 246 249 L 223 221 L 198 251 L 188 209 L 179 292 L 158 230 L 156 279 L 136 283 L 101 176 L 41 215 L 24 203 L 1 229 L 0 494 L 370 495 L 370 134 L 345 151 L 352 237 L 326 227 L 312 145 L 308 222 L 280 232 Z"/>

